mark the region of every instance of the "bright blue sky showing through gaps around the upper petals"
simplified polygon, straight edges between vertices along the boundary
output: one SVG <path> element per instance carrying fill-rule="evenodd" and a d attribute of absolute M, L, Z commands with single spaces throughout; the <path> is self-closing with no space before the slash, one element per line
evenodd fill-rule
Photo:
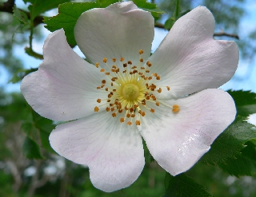
<path fill-rule="evenodd" d="M 24 6 L 24 3 L 22 2 L 22 0 L 17 0 L 16 3 L 18 5 L 18 7 Z M 198 6 L 198 5 L 195 5 L 195 6 Z M 256 28 L 256 12 L 255 12 L 255 10 L 256 10 L 256 1 L 247 0 L 246 1 L 247 14 L 244 18 L 242 18 L 240 32 L 238 32 L 238 35 L 241 37 L 241 39 L 242 39 L 242 37 L 244 37 L 244 35 L 246 33 L 250 32 Z M 46 14 L 49 16 L 53 16 L 53 15 L 57 14 L 57 10 L 50 11 Z M 50 31 L 46 30 L 43 27 L 42 27 L 42 30 L 43 30 L 44 38 L 42 39 L 42 41 L 34 41 L 34 44 L 33 44 L 34 51 L 36 51 L 38 53 L 42 53 L 43 41 L 50 34 Z M 216 30 L 216 31 L 219 32 L 221 30 Z M 162 39 L 166 36 L 166 33 L 168 33 L 166 30 L 155 29 L 155 37 L 154 37 L 154 41 L 153 41 L 153 45 L 152 45 L 153 51 L 155 49 L 157 49 L 157 47 L 160 44 L 160 42 L 162 41 Z M 26 44 L 26 45 L 28 45 L 28 44 Z M 26 66 L 27 69 L 36 68 L 36 67 L 38 67 L 38 65 L 40 65 L 40 63 L 42 61 L 36 60 L 33 57 L 30 57 L 26 53 L 24 53 L 24 48 L 26 45 L 16 47 L 14 49 L 14 53 L 22 59 L 24 65 Z M 82 53 L 80 52 L 80 50 L 78 49 L 78 47 L 75 47 L 74 50 L 78 54 L 83 56 Z M 235 73 L 235 75 L 238 77 L 242 77 L 246 73 L 246 70 L 247 70 L 249 64 L 255 65 L 255 61 L 249 62 L 249 61 L 240 60 L 239 65 L 238 65 L 238 70 Z M 225 85 L 222 85 L 221 88 L 225 89 L 225 90 L 227 90 L 227 89 L 252 90 L 254 93 L 256 93 L 256 69 L 254 67 L 255 66 L 251 66 L 251 68 L 253 68 L 253 69 L 251 70 L 250 76 L 248 78 L 244 79 L 243 81 L 234 81 L 231 79 Z M 10 76 L 7 76 L 6 71 L 0 66 L 0 85 L 4 85 L 7 92 L 19 91 L 20 84 L 16 84 L 16 85 L 7 84 L 7 81 L 9 79 L 10 79 Z M 256 115 L 254 116 L 253 121 L 255 121 L 254 124 L 256 124 Z"/>

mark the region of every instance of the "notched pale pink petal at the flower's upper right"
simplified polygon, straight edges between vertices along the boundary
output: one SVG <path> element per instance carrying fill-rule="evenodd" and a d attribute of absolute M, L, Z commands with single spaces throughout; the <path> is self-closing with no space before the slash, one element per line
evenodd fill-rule
<path fill-rule="evenodd" d="M 218 88 L 234 75 L 238 46 L 234 41 L 214 40 L 213 33 L 214 17 L 203 6 L 175 22 L 150 57 L 152 72 L 161 76 L 157 85 L 170 86 L 166 98 Z"/>

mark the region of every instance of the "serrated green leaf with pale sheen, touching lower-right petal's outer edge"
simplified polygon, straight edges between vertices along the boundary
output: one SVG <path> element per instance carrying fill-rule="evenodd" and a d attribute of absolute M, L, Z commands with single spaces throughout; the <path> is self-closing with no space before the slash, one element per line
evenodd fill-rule
<path fill-rule="evenodd" d="M 211 145 L 210 151 L 202 156 L 203 164 L 217 165 L 234 158 L 245 148 L 245 143 L 256 139 L 254 125 L 247 123 L 246 117 L 237 116 L 232 124 Z"/>

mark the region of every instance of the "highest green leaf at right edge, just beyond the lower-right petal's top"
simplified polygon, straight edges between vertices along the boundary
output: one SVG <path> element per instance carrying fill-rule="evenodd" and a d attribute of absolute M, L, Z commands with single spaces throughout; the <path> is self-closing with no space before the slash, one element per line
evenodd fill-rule
<path fill-rule="evenodd" d="M 237 114 L 240 116 L 249 116 L 252 113 L 256 113 L 256 93 L 250 91 L 227 91 L 234 99 L 234 103 L 237 107 Z"/>

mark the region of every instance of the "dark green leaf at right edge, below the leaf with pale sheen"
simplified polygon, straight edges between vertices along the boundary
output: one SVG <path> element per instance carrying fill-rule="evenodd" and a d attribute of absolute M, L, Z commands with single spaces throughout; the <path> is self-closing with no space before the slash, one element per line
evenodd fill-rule
<path fill-rule="evenodd" d="M 225 164 L 219 164 L 224 171 L 237 177 L 241 175 L 256 175 L 256 145 L 249 141 L 246 148 L 234 159 L 226 160 Z"/>

